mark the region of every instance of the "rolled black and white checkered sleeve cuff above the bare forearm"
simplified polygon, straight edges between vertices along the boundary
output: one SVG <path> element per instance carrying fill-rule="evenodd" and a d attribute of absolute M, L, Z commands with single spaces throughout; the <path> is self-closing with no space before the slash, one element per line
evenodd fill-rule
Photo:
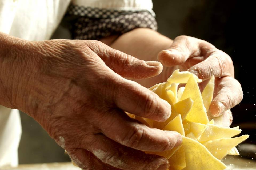
<path fill-rule="evenodd" d="M 70 5 L 68 15 L 75 16 L 71 21 L 73 39 L 99 40 L 135 28 L 157 30 L 154 13 L 147 10 L 124 11 Z"/>

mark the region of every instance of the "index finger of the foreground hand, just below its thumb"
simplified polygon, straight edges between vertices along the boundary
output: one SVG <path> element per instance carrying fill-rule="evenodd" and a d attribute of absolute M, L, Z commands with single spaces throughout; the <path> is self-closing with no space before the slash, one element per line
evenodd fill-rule
<path fill-rule="evenodd" d="M 116 88 L 114 103 L 124 111 L 163 122 L 170 117 L 170 104 L 136 82 L 123 80 Z"/>

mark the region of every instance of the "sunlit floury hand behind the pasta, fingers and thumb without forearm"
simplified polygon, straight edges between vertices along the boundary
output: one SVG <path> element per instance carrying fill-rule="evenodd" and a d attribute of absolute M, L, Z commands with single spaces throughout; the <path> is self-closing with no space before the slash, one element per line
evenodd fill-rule
<path fill-rule="evenodd" d="M 243 99 L 240 83 L 234 79 L 234 66 L 231 58 L 212 44 L 189 36 L 178 36 L 167 50 L 158 54 L 158 59 L 167 66 L 166 75 L 175 69 L 190 71 L 200 79 L 201 89 L 207 84 L 207 79 L 215 76 L 215 89 L 210 112 L 214 117 L 222 114 L 229 123 L 232 122 L 230 108 Z"/>

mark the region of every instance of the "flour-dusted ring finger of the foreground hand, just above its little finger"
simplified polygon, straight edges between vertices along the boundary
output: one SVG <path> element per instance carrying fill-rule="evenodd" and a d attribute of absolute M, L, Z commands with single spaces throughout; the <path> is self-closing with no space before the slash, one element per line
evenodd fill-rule
<path fill-rule="evenodd" d="M 86 143 L 86 147 L 102 162 L 123 170 L 155 170 L 160 166 L 166 170 L 169 166 L 166 158 L 123 146 L 103 134 L 94 135 L 91 145 Z"/>

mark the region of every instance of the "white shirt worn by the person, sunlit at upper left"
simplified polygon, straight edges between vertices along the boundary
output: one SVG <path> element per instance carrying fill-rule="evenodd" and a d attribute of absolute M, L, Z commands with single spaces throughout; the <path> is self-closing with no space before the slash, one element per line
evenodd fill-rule
<path fill-rule="evenodd" d="M 71 0 L 0 0 L 0 31 L 30 41 L 50 39 Z M 74 5 L 119 10 L 152 10 L 151 0 L 73 0 Z M 0 106 L 0 167 L 18 165 L 21 123 L 18 110 Z"/>

